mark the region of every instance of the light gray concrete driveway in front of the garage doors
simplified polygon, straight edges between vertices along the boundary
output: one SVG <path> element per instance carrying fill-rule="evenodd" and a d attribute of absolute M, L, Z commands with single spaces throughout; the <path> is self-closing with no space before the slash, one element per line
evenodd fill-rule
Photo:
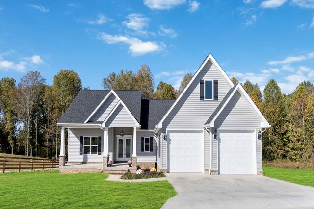
<path fill-rule="evenodd" d="M 178 195 L 163 209 L 314 209 L 314 188 L 265 176 L 166 175 Z"/>

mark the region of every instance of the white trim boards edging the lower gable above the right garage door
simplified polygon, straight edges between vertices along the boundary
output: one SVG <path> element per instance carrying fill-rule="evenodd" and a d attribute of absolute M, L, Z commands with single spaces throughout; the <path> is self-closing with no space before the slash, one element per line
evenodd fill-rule
<path fill-rule="evenodd" d="M 231 100 L 231 98 L 234 96 L 235 92 L 238 91 L 240 94 L 244 95 L 245 98 L 247 99 L 247 101 L 249 101 L 250 105 L 253 107 L 253 110 L 255 111 L 255 113 L 261 117 L 262 122 L 261 122 L 261 128 L 269 128 L 270 125 L 267 122 L 267 120 L 265 119 L 265 117 L 262 115 L 261 111 L 258 109 L 258 107 L 254 104 L 253 100 L 250 98 L 250 96 L 245 92 L 245 90 L 243 89 L 243 87 L 241 86 L 240 83 L 236 84 L 236 87 L 234 89 L 234 91 L 229 95 L 229 97 L 227 98 L 227 101 L 223 104 L 223 106 L 220 108 L 220 110 L 218 111 L 218 113 L 216 114 L 216 116 L 210 121 L 210 123 L 208 125 L 205 125 L 207 127 L 214 127 L 214 122 L 215 120 L 218 118 L 218 116 L 221 114 L 221 112 L 225 109 L 225 107 L 227 106 L 227 104 L 229 103 L 229 101 Z"/>

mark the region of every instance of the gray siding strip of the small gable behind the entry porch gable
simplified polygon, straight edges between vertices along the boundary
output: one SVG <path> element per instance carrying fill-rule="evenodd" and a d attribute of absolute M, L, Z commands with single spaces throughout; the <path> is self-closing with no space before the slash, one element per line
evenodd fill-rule
<path fill-rule="evenodd" d="M 91 117 L 90 121 L 104 121 L 117 103 L 118 99 L 114 94 L 111 94 L 95 115 Z"/>

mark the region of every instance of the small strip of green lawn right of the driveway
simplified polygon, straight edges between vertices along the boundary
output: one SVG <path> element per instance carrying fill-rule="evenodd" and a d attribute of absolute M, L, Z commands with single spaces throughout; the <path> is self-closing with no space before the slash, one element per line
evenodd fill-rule
<path fill-rule="evenodd" d="M 264 175 L 305 186 L 314 187 L 314 170 L 263 167 Z"/>

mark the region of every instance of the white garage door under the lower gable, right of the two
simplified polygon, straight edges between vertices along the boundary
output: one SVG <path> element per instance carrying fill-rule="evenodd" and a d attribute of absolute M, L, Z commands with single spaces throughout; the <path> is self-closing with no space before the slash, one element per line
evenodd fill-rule
<path fill-rule="evenodd" d="M 255 174 L 255 132 L 218 131 L 218 170 L 220 174 Z"/>

